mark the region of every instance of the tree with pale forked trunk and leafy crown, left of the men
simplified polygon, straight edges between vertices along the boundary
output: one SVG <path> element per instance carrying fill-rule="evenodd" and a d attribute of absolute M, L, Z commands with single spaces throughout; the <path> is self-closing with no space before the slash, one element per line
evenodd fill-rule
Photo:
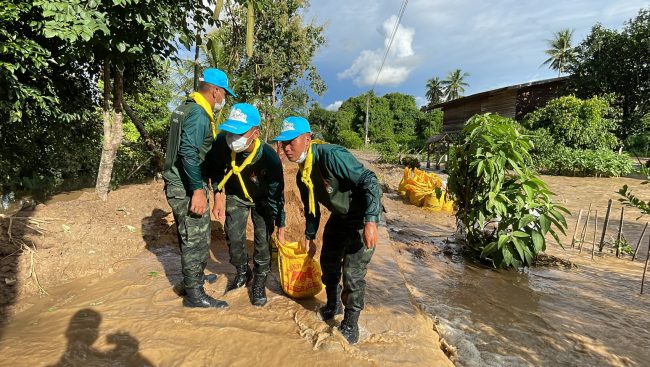
<path fill-rule="evenodd" d="M 160 72 L 161 58 L 176 57 L 176 37 L 195 39 L 212 20 L 212 9 L 194 0 L 38 0 L 47 19 L 46 37 L 68 42 L 75 50 L 64 62 L 84 66 L 101 80 L 104 136 L 97 174 L 97 195 L 106 200 L 113 163 L 122 143 L 125 91 L 137 91 Z M 188 19 L 192 22 L 188 23 Z"/>

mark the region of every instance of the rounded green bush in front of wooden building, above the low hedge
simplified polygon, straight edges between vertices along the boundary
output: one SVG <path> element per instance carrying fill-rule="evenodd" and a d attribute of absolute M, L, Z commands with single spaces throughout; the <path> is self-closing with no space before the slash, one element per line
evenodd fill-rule
<path fill-rule="evenodd" d="M 614 149 L 619 141 L 611 132 L 615 122 L 606 99 L 592 97 L 581 100 L 564 96 L 528 114 L 524 126 L 545 129 L 557 144 L 576 149 Z"/>

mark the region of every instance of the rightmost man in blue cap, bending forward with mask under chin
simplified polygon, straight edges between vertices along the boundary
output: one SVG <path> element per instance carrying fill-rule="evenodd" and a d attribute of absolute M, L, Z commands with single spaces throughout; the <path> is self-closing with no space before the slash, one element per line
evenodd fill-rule
<path fill-rule="evenodd" d="M 319 204 L 332 212 L 323 231 L 320 256 L 327 293 L 327 304 L 320 315 L 329 320 L 340 314 L 342 298 L 345 315 L 339 330 L 354 344 L 359 340 L 365 276 L 375 252 L 382 211 L 377 177 L 343 147 L 312 141 L 309 122 L 302 117 L 287 117 L 274 140 L 282 143 L 290 161 L 300 165 L 297 182 L 306 218 L 303 248 L 312 256 L 320 224 Z M 343 291 L 339 297 L 341 275 Z"/>

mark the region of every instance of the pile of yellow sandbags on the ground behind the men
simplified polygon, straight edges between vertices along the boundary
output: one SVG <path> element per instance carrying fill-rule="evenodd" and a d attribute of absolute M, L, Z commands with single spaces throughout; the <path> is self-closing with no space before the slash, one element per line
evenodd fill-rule
<path fill-rule="evenodd" d="M 447 198 L 442 179 L 435 173 L 407 167 L 404 169 L 404 177 L 398 190 L 400 195 L 413 205 L 431 211 L 454 211 L 454 202 Z"/>

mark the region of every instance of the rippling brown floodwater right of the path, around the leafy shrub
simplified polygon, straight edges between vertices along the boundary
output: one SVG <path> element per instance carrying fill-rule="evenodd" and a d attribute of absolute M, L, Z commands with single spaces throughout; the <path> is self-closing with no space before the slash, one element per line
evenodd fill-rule
<path fill-rule="evenodd" d="M 586 212 L 589 203 L 599 207 L 597 242 L 609 198 L 615 203 L 607 241 L 616 235 L 620 204 L 615 191 L 622 184 L 650 197 L 640 180 L 544 179 L 572 212 Z M 616 259 L 609 246 L 594 260 L 590 251 L 570 249 L 577 215 L 567 218 L 570 230 L 563 243 L 569 248 L 549 242 L 547 249 L 575 267 L 495 271 L 455 255 L 454 244 L 445 241 L 453 237 L 453 217 L 413 212 L 396 194 L 387 199 L 391 239 L 404 255 L 398 257 L 400 269 L 414 301 L 437 317 L 441 336 L 457 348 L 458 365 L 650 366 L 650 294 L 639 295 L 643 264 L 629 256 Z M 638 214 L 628 210 L 624 217 L 624 233 L 633 246 L 645 223 Z M 585 248 L 591 249 L 593 229 L 587 233 Z M 646 234 L 642 260 L 647 241 Z"/>

